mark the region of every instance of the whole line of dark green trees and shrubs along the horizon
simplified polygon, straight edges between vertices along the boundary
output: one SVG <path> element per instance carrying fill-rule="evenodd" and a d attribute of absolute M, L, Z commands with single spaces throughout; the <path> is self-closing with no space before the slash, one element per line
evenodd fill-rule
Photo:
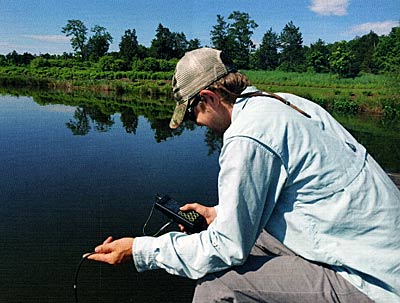
<path fill-rule="evenodd" d="M 211 47 L 223 50 L 239 69 L 281 70 L 288 72 L 334 73 L 355 77 L 360 73 L 398 74 L 400 71 L 400 27 L 378 36 L 371 31 L 350 41 L 325 43 L 322 39 L 303 45 L 300 28 L 290 21 L 280 33 L 269 28 L 259 45 L 252 40 L 258 24 L 249 14 L 232 12 L 227 18 L 217 15 L 210 31 Z M 121 36 L 119 51 L 109 52 L 113 37 L 95 25 L 90 30 L 80 20 L 68 20 L 62 33 L 70 37 L 73 53 L 63 55 L 0 55 L 0 66 L 51 65 L 49 59 L 96 62 L 103 71 L 169 71 L 185 52 L 201 47 L 200 40 L 188 39 L 183 32 L 172 32 L 161 23 L 150 47 L 139 44 L 136 30 Z"/>

